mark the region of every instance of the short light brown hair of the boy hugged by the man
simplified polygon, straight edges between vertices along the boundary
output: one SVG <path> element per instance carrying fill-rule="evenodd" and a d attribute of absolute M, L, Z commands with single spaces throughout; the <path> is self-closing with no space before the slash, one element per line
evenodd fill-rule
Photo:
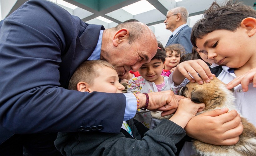
<path fill-rule="evenodd" d="M 69 80 L 68 89 L 77 90 L 76 85 L 78 82 L 84 81 L 90 85 L 93 85 L 93 80 L 99 76 L 98 70 L 102 67 L 109 67 L 115 70 L 107 61 L 103 60 L 92 60 L 84 61 L 74 72 Z"/>

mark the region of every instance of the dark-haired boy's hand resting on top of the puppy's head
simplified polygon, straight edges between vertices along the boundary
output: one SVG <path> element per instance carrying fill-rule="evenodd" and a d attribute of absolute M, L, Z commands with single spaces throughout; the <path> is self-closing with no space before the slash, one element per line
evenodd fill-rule
<path fill-rule="evenodd" d="M 203 60 L 189 60 L 181 62 L 177 65 L 176 70 L 185 76 L 188 80 L 192 82 L 198 82 L 199 84 L 203 84 L 203 80 L 208 83 L 213 79 L 214 74 L 211 73 L 209 67 Z M 175 72 L 176 72 L 175 70 Z M 199 77 L 199 75 L 202 79 Z M 193 77 L 191 77 L 191 76 Z M 174 80 L 175 81 L 175 80 Z"/>

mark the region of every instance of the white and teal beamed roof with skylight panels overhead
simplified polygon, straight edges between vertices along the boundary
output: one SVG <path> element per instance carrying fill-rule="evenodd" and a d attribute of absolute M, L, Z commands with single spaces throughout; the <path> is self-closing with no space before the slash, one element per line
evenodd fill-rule
<path fill-rule="evenodd" d="M 7 17 L 27 0 L 0 0 L 1 17 Z M 189 12 L 187 24 L 192 27 L 214 0 L 49 0 L 57 3 L 72 15 L 90 24 L 101 24 L 106 29 L 128 19 L 147 24 L 163 45 L 171 32 L 165 29 L 166 12 L 183 6 Z M 256 0 L 240 0 L 254 6 Z M 216 0 L 223 3 L 225 0 Z"/>

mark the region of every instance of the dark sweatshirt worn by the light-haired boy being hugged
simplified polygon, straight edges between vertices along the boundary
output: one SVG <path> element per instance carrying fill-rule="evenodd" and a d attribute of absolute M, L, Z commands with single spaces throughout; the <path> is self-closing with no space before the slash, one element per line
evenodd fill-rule
<path fill-rule="evenodd" d="M 142 140 L 125 138 L 122 133 L 75 132 L 58 134 L 55 145 L 63 155 L 175 155 L 175 144 L 184 136 L 184 129 L 163 119 Z"/>

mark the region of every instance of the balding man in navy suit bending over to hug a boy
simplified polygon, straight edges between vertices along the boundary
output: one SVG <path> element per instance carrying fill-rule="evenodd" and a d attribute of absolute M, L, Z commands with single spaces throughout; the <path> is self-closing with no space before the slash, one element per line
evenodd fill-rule
<path fill-rule="evenodd" d="M 1 155 L 22 155 L 23 147 L 30 155 L 57 155 L 52 132 L 119 133 L 145 107 L 146 95 L 87 94 L 67 90 L 68 81 L 83 61 L 97 59 L 126 77 L 156 51 L 155 35 L 143 23 L 105 30 L 49 1 L 23 4 L 0 22 Z M 161 107 L 167 115 L 177 105 L 171 91 L 149 94 L 150 110 Z"/>

